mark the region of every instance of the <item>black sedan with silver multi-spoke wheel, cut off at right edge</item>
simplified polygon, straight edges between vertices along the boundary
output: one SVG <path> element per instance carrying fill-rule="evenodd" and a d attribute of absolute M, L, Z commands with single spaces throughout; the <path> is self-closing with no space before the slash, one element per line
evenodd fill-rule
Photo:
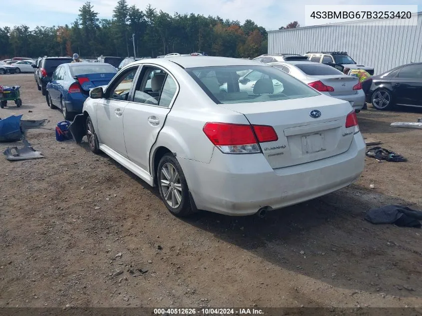
<path fill-rule="evenodd" d="M 422 62 L 402 65 L 373 76 L 367 102 L 378 110 L 394 105 L 422 106 Z"/>

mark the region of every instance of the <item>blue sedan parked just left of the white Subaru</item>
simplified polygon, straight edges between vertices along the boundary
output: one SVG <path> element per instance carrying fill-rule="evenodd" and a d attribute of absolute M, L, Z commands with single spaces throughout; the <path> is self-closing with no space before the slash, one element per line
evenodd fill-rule
<path fill-rule="evenodd" d="M 64 119 L 72 120 L 82 113 L 89 90 L 107 85 L 117 73 L 116 68 L 101 62 L 74 62 L 59 65 L 47 84 L 45 98 L 50 108 L 60 108 Z"/>

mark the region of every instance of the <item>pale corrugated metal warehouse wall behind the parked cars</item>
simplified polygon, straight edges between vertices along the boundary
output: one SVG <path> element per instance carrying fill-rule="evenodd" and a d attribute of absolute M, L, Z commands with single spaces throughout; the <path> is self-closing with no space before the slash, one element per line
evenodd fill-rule
<path fill-rule="evenodd" d="M 336 23 L 269 31 L 268 53 L 304 54 L 308 51 L 347 51 L 358 63 L 380 74 L 396 66 L 422 61 L 422 12 L 417 26 Z"/>

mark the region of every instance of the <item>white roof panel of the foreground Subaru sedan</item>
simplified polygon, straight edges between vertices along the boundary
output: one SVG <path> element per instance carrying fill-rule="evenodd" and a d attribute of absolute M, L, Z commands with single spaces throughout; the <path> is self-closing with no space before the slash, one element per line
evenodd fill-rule
<path fill-rule="evenodd" d="M 230 58 L 230 57 L 214 57 L 214 56 L 179 56 L 166 58 L 142 59 L 136 63 L 142 64 L 153 62 L 165 65 L 166 62 L 174 62 L 183 68 L 196 67 L 213 67 L 213 66 L 265 66 L 266 64 L 248 59 Z"/>

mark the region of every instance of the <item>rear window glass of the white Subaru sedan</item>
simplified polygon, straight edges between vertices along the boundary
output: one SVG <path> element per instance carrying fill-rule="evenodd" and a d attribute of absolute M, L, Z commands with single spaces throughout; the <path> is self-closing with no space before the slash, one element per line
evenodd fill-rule
<path fill-rule="evenodd" d="M 319 95 L 284 71 L 268 66 L 219 66 L 185 69 L 218 103 L 254 103 Z"/>

